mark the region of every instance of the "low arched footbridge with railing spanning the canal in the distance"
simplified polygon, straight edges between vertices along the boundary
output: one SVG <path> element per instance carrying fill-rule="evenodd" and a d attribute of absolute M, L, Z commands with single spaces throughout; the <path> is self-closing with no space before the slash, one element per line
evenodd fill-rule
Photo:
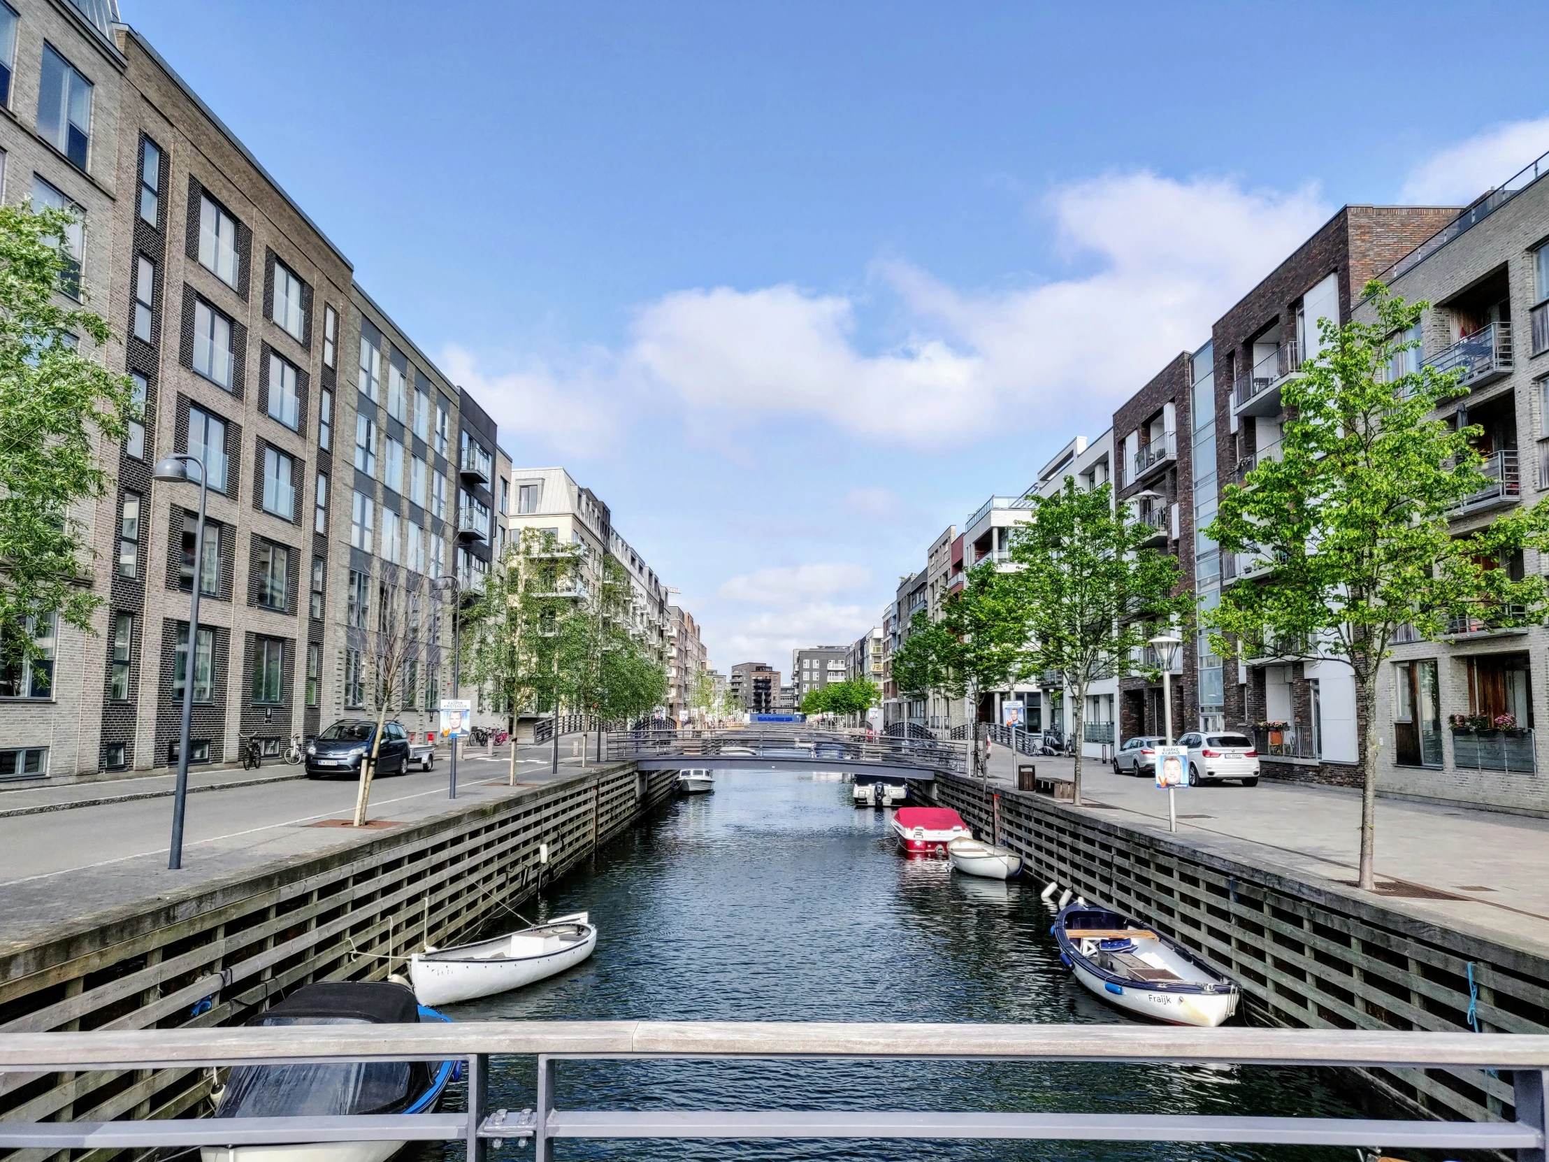
<path fill-rule="evenodd" d="M 835 730 L 632 730 L 606 737 L 612 762 L 682 758 L 686 765 L 713 758 L 764 758 L 841 765 L 881 764 L 962 775 L 968 768 L 960 742 L 895 739 Z"/>

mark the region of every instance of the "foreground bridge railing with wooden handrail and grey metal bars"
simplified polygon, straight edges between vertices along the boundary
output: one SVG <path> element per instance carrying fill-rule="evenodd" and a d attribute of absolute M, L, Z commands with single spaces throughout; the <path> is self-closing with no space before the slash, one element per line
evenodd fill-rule
<path fill-rule="evenodd" d="M 538 1055 L 536 1105 L 489 1109 L 489 1058 Z M 1049 1109 L 567 1109 L 559 1061 L 957 1060 L 1341 1066 L 1507 1071 L 1513 1120 L 1089 1114 Z M 466 1112 L 0 1122 L 5 1150 L 150 1150 L 304 1142 L 462 1142 L 483 1162 L 491 1142 L 579 1139 L 1022 1139 L 1252 1142 L 1357 1148 L 1516 1151 L 1544 1157 L 1549 1037 L 1346 1029 L 1143 1026 L 742 1024 L 668 1021 L 485 1021 L 415 1026 L 141 1029 L 0 1035 L 0 1072 L 194 1069 L 299 1061 L 465 1061 Z M 514 1063 L 502 1066 L 514 1071 Z M 20 1075 L 20 1077 L 17 1077 Z M 1029 1089 L 1027 1092 L 1033 1092 Z M 1042 1092 L 1042 1091 L 1038 1091 Z M 1292 1091 L 1287 1091 L 1292 1092 Z M 833 1094 L 843 1100 L 847 1094 Z M 1142 1098 L 1137 1097 L 1137 1105 Z"/>

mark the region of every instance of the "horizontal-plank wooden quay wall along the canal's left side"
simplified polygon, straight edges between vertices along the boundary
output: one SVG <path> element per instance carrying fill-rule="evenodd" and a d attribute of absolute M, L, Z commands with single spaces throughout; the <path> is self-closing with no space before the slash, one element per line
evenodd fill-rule
<path fill-rule="evenodd" d="M 671 798 L 674 778 L 601 767 L 62 922 L 0 950 L 0 1032 L 242 1024 L 301 984 L 380 981 L 426 944 L 510 917 Z M 0 1119 L 178 1117 L 209 1091 L 208 1069 L 0 1074 Z"/>

